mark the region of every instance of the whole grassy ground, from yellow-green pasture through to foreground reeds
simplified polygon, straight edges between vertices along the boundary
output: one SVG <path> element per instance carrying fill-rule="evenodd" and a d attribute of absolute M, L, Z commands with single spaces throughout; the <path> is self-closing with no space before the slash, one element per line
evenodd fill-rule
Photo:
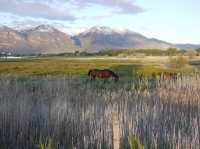
<path fill-rule="evenodd" d="M 0 148 L 200 148 L 198 59 L 168 64 L 150 57 L 2 59 Z M 120 80 L 90 81 L 91 68 L 110 68 Z M 163 71 L 184 75 L 151 76 Z"/>

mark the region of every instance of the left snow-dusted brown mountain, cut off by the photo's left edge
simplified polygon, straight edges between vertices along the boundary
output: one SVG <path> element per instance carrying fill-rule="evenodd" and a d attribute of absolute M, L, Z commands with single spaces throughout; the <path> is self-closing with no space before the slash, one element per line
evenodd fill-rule
<path fill-rule="evenodd" d="M 45 25 L 22 31 L 1 27 L 0 35 L 0 50 L 14 54 L 66 53 L 78 49 L 71 36 Z"/>

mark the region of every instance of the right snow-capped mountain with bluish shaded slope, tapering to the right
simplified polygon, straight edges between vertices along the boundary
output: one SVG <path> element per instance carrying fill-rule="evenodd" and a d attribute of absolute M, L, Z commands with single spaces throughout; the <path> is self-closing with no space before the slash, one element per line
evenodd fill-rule
<path fill-rule="evenodd" d="M 149 39 L 139 33 L 124 30 L 118 31 L 108 27 L 93 27 L 75 36 L 80 47 L 89 52 L 102 49 L 167 49 L 172 44 Z"/>

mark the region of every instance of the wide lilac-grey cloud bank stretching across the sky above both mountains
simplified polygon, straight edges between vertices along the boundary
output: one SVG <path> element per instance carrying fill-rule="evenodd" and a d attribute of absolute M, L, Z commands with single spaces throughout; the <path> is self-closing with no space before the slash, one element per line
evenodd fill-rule
<path fill-rule="evenodd" d="M 105 12 L 98 12 L 98 15 L 92 15 L 92 12 L 81 14 L 94 6 L 106 7 Z M 136 14 L 142 11 L 134 0 L 0 0 L 0 15 L 9 14 L 34 21 L 44 19 L 73 23 L 75 20 L 100 20 L 115 14 Z M 18 19 L 11 19 L 19 22 Z"/>

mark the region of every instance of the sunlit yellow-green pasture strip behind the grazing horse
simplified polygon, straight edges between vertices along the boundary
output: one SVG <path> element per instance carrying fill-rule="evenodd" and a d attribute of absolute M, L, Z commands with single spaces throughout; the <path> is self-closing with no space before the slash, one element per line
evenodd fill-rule
<path fill-rule="evenodd" d="M 160 61 L 146 62 L 141 59 L 89 59 L 89 58 L 26 58 L 1 59 L 0 74 L 2 75 L 67 75 L 86 76 L 91 68 L 109 68 L 120 76 L 133 76 L 136 73 L 150 75 L 153 72 L 184 71 L 192 72 L 193 66 L 186 68 L 170 68 Z"/>

